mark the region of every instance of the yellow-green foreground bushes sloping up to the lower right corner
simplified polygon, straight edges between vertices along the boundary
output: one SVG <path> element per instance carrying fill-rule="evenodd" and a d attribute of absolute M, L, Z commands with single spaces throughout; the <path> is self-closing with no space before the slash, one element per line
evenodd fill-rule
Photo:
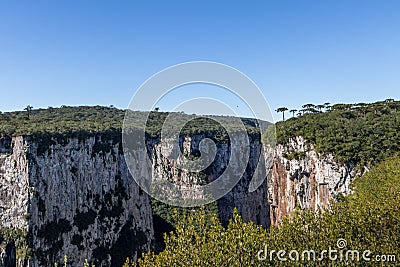
<path fill-rule="evenodd" d="M 207 218 L 204 210 L 194 212 L 177 223 L 175 232 L 165 235 L 163 252 L 149 252 L 125 266 L 376 266 L 381 265 L 376 262 L 377 255 L 384 255 L 387 261 L 393 261 L 391 255 L 395 255 L 399 264 L 400 158 L 381 163 L 353 186 L 355 193 L 333 203 L 330 210 L 299 211 L 269 230 L 244 222 L 237 213 L 224 228 L 216 215 Z M 341 249 L 339 239 L 347 242 Z M 269 250 L 267 259 L 260 261 L 257 254 L 265 248 Z M 327 255 L 321 261 L 308 261 L 307 255 L 302 260 L 304 250 L 316 251 L 318 258 L 319 252 L 329 248 L 338 250 L 336 261 Z M 270 260 L 272 250 L 296 250 L 299 262 L 291 261 L 287 254 L 287 261 L 279 261 L 276 252 Z M 344 256 L 340 261 L 340 251 L 345 255 L 347 250 L 358 250 L 360 261 L 351 260 L 351 255 L 349 261 Z M 362 260 L 365 250 L 371 251 L 370 261 Z M 296 254 L 292 256 L 296 258 Z"/>

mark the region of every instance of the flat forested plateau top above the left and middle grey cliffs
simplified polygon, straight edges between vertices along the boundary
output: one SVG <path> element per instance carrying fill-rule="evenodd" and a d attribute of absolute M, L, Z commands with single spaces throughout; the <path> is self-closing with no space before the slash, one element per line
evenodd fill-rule
<path fill-rule="evenodd" d="M 47 109 L 32 109 L 28 106 L 24 111 L 6 112 L 0 114 L 0 137 L 22 135 L 93 135 L 103 132 L 120 134 L 126 110 L 104 106 L 62 106 Z M 160 136 L 163 123 L 170 113 L 168 112 L 141 112 L 129 111 L 128 127 L 143 129 L 141 122 L 146 121 L 146 134 Z M 148 118 L 147 118 L 148 116 Z M 229 116 L 218 117 L 224 124 L 233 129 L 237 125 L 232 123 Z M 189 121 L 181 134 L 210 134 L 216 139 L 227 138 L 224 128 L 208 118 L 196 118 L 195 115 L 174 113 L 175 122 Z M 255 119 L 241 118 L 249 134 L 259 133 L 255 127 Z"/>

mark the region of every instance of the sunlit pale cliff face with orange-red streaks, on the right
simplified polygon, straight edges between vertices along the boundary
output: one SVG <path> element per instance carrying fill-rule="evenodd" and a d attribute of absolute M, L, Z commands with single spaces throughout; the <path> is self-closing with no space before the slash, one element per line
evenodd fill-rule
<path fill-rule="evenodd" d="M 349 185 L 357 173 L 354 165 L 339 165 L 332 155 L 319 155 L 302 137 L 278 145 L 273 171 L 268 180 L 271 224 L 279 223 L 296 207 L 318 210 L 339 194 L 351 192 Z"/>

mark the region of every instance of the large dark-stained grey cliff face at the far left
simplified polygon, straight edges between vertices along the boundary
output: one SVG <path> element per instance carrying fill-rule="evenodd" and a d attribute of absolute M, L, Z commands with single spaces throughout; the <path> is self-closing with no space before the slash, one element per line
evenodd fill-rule
<path fill-rule="evenodd" d="M 119 266 L 148 251 L 149 198 L 129 174 L 119 143 L 86 138 L 16 137 L 1 155 L 2 227 L 28 230 L 29 266 L 68 256 Z"/>

